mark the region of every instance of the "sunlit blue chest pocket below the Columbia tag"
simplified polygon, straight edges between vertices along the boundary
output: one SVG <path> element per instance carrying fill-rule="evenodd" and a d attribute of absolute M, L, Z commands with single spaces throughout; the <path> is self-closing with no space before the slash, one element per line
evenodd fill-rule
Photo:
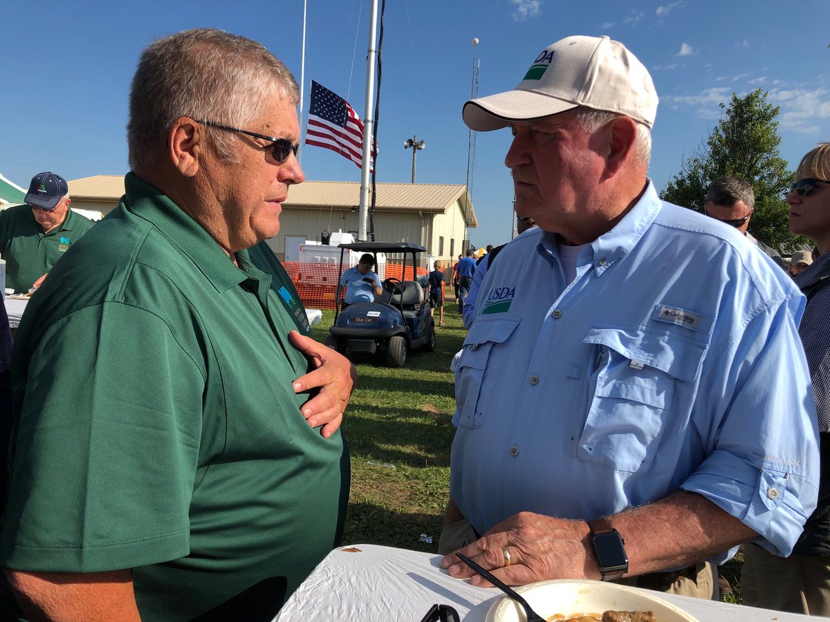
<path fill-rule="evenodd" d="M 706 344 L 647 328 L 592 328 L 593 395 L 577 457 L 619 471 L 647 470 L 679 382 L 700 372 Z"/>

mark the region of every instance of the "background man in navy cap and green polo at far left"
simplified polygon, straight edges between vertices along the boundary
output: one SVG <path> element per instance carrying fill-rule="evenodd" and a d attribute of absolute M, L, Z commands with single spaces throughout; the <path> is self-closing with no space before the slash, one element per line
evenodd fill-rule
<path fill-rule="evenodd" d="M 66 179 L 55 173 L 32 177 L 26 205 L 0 213 L 0 255 L 6 287 L 15 293 L 37 287 L 55 262 L 94 224 L 71 211 Z"/>

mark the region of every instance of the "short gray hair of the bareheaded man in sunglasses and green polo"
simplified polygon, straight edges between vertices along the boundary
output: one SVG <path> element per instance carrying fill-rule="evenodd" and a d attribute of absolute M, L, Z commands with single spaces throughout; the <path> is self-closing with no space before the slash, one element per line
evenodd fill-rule
<path fill-rule="evenodd" d="M 296 105 L 294 75 L 256 41 L 215 28 L 196 28 L 153 41 L 144 50 L 129 92 L 129 166 L 150 166 L 179 117 L 242 127 L 275 97 Z M 220 158 L 232 161 L 235 134 L 206 127 Z"/>

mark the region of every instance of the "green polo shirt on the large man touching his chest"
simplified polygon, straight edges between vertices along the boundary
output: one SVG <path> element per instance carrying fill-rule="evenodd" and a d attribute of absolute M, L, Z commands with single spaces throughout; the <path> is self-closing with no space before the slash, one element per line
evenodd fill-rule
<path fill-rule="evenodd" d="M 309 362 L 271 275 L 125 186 L 17 332 L 0 563 L 132 568 L 145 622 L 270 620 L 338 544 L 344 440 L 300 413 Z"/>

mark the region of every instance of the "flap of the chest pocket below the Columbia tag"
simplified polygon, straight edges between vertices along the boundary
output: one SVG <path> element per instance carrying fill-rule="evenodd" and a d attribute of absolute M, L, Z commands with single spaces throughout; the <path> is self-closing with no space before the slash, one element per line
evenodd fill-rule
<path fill-rule="evenodd" d="M 706 343 L 653 328 L 594 327 L 584 343 L 596 343 L 632 361 L 666 372 L 678 380 L 692 381 L 701 369 Z"/>

